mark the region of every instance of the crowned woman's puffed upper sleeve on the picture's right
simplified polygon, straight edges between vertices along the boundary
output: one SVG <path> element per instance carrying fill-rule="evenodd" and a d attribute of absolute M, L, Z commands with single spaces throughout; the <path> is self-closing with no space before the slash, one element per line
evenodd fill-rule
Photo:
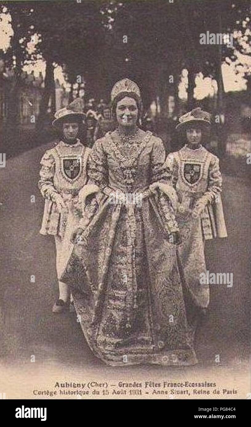
<path fill-rule="evenodd" d="M 165 147 L 160 138 L 154 137 L 153 149 L 151 152 L 151 183 L 171 181 L 171 171 L 165 163 Z"/>

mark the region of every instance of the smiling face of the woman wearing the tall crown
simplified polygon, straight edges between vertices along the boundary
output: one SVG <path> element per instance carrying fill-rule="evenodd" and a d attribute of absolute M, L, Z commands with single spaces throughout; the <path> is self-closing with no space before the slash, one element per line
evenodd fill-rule
<path fill-rule="evenodd" d="M 116 106 L 116 118 L 118 124 L 124 127 L 135 126 L 138 119 L 138 106 L 135 99 L 124 97 Z"/>

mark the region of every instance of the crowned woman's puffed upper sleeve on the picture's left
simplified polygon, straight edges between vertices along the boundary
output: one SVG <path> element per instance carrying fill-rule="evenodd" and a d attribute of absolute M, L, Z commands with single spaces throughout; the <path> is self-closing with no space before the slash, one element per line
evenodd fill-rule
<path fill-rule="evenodd" d="M 89 183 L 104 189 L 108 184 L 107 158 L 102 145 L 103 138 L 98 139 L 89 155 L 87 175 Z"/>

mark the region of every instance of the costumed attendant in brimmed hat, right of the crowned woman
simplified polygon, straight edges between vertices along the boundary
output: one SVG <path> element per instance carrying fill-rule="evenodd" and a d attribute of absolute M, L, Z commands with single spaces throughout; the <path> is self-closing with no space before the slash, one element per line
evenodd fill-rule
<path fill-rule="evenodd" d="M 194 108 L 180 117 L 176 129 L 183 132 L 186 143 L 179 151 L 170 153 L 166 160 L 172 170 L 179 201 L 177 221 L 182 243 L 177 252 L 190 301 L 187 311 L 193 326 L 210 298 L 208 284 L 200 281 L 201 273 L 206 273 L 204 241 L 227 237 L 220 196 L 219 158 L 201 145 L 204 132 L 210 128 L 210 118 L 210 114 L 201 108 Z"/>

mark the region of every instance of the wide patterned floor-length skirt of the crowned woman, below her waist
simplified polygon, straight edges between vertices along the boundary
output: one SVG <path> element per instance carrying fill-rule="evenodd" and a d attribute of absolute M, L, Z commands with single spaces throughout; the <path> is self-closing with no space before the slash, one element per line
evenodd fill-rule
<path fill-rule="evenodd" d="M 197 363 L 183 257 L 157 211 L 153 198 L 141 208 L 106 202 L 81 241 L 65 243 L 60 280 L 71 286 L 86 341 L 108 365 Z"/>

